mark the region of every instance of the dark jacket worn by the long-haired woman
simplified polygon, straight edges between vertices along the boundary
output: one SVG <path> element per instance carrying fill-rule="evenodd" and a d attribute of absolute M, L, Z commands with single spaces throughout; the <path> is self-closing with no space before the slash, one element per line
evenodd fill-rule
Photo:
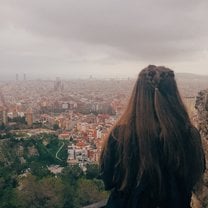
<path fill-rule="evenodd" d="M 200 138 L 199 138 L 200 139 Z M 111 190 L 108 199 L 107 208 L 190 208 L 192 188 L 187 188 L 184 180 L 176 174 L 171 173 L 165 167 L 165 160 L 161 165 L 163 177 L 163 191 L 166 192 L 165 198 L 151 196 L 151 187 L 148 176 L 143 175 L 139 185 L 135 179 L 135 184 L 131 185 L 128 190 L 120 191 L 120 182 L 115 182 L 117 161 L 117 140 L 110 135 L 103 163 L 101 164 L 101 178 L 104 181 L 105 189 Z M 159 145 L 155 148 L 161 148 Z M 164 164 L 163 164 L 164 163 Z"/>

